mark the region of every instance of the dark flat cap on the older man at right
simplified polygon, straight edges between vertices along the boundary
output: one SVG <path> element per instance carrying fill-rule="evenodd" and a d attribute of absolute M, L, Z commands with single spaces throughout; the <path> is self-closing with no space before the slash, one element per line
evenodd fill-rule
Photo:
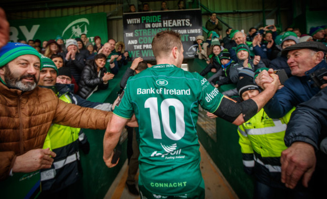
<path fill-rule="evenodd" d="M 327 52 L 327 47 L 323 43 L 309 41 L 309 42 L 300 42 L 292 46 L 286 47 L 285 49 L 282 50 L 282 55 L 287 56 L 287 53 L 290 50 L 305 49 L 305 48 L 314 50 L 316 52 L 322 51 L 324 54 L 326 54 Z"/>

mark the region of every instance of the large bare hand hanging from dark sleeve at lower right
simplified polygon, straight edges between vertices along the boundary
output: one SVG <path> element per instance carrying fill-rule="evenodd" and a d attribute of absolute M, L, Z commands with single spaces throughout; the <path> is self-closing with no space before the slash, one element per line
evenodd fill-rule
<path fill-rule="evenodd" d="M 316 157 L 312 145 L 305 142 L 294 142 L 282 152 L 282 182 L 288 188 L 294 188 L 303 176 L 302 184 L 308 187 L 308 182 L 315 168 Z"/>

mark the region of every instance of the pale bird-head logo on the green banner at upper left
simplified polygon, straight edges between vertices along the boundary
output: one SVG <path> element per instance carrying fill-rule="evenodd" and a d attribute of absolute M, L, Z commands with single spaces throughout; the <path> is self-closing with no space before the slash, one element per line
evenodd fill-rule
<path fill-rule="evenodd" d="M 63 38 L 76 38 L 80 37 L 81 34 L 88 34 L 89 20 L 86 18 L 80 18 L 72 21 L 62 32 Z"/>

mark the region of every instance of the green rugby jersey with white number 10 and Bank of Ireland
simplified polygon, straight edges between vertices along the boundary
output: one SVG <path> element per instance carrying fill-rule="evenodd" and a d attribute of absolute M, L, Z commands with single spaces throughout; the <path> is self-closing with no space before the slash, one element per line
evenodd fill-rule
<path fill-rule="evenodd" d="M 198 73 L 160 64 L 130 77 L 114 114 L 139 125 L 139 184 L 158 194 L 190 193 L 202 180 L 198 107 L 217 110 L 222 94 Z"/>

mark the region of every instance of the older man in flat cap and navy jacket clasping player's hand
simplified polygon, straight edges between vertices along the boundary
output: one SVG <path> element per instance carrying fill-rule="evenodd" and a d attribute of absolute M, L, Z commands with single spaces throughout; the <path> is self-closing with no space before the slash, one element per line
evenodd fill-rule
<path fill-rule="evenodd" d="M 302 42 L 282 50 L 282 55 L 287 55 L 287 64 L 291 68 L 291 76 L 285 81 L 284 86 L 277 90 L 275 95 L 264 107 L 270 118 L 281 118 L 298 104 L 308 101 L 317 94 L 321 87 L 315 86 L 310 74 L 321 68 L 327 68 L 323 60 L 327 47 L 320 42 Z M 273 69 L 262 71 L 256 82 L 263 89 L 263 83 L 272 81 L 269 73 Z"/>

